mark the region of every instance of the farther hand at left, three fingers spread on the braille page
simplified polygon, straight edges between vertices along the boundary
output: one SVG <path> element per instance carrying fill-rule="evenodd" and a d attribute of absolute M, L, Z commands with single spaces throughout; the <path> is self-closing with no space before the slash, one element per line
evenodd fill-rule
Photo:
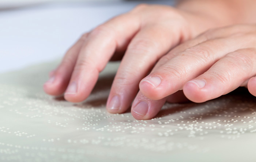
<path fill-rule="evenodd" d="M 206 15 L 168 6 L 139 5 L 84 34 L 67 51 L 59 67 L 50 73 L 44 90 L 50 95 L 65 92 L 67 101 L 83 101 L 90 95 L 107 62 L 111 58 L 122 58 L 107 109 L 111 113 L 125 112 L 139 90 L 139 82 L 159 58 L 179 43 L 219 25 L 212 16 Z M 153 116 L 146 115 L 145 119 L 150 117 Z"/>

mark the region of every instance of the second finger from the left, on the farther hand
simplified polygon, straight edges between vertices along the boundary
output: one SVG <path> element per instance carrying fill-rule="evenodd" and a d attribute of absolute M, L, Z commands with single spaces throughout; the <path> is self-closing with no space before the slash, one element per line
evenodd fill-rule
<path fill-rule="evenodd" d="M 124 23 L 124 20 L 125 21 Z M 93 89 L 98 74 L 106 66 L 114 51 L 127 45 L 127 41 L 139 30 L 139 19 L 124 14 L 95 28 L 81 47 L 72 77 L 64 94 L 66 100 L 85 100 Z"/>

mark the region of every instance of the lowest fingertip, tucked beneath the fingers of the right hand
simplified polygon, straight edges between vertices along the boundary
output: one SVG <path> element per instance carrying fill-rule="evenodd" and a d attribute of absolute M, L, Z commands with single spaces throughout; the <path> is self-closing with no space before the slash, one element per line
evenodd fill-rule
<path fill-rule="evenodd" d="M 165 101 L 165 98 L 161 100 L 150 100 L 139 92 L 132 104 L 132 116 L 138 120 L 151 119 L 161 110 Z"/>

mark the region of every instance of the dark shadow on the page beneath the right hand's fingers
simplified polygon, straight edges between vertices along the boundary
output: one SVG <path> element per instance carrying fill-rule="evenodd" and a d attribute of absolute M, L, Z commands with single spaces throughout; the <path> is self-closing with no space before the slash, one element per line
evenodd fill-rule
<path fill-rule="evenodd" d="M 156 117 L 182 116 L 182 120 L 188 121 L 235 120 L 242 117 L 249 119 L 253 113 L 256 114 L 255 96 L 252 96 L 245 88 L 238 88 L 227 95 L 205 103 L 166 103 Z"/>

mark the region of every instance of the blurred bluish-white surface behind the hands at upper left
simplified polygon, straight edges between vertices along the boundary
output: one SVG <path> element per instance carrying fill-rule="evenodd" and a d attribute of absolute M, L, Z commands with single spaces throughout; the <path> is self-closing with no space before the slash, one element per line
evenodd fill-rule
<path fill-rule="evenodd" d="M 0 73 L 61 58 L 84 32 L 139 3 L 172 2 L 76 1 L 0 10 Z"/>

